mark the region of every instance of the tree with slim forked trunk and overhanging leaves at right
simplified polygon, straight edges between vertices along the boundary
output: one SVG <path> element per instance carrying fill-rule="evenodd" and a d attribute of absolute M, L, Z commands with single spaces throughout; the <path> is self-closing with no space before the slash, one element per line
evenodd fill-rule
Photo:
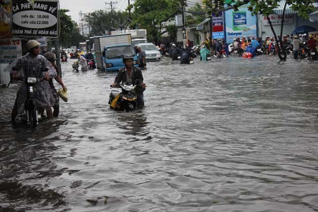
<path fill-rule="evenodd" d="M 238 10 L 238 7 L 250 3 L 249 10 L 252 12 L 253 15 L 257 15 L 258 13 L 263 14 L 263 16 L 267 17 L 268 22 L 271 26 L 272 32 L 275 37 L 276 46 L 278 47 L 278 57 L 280 60 L 286 60 L 286 52 L 285 47 L 283 45 L 279 45 L 282 43 L 282 33 L 284 27 L 284 18 L 285 18 L 285 11 L 287 5 L 290 5 L 292 9 L 298 12 L 298 16 L 308 19 L 309 13 L 313 11 L 314 6 L 313 3 L 315 0 L 286 0 L 285 5 L 283 8 L 282 14 L 282 24 L 280 27 L 280 40 L 277 39 L 277 33 L 273 28 L 273 24 L 269 18 L 270 14 L 274 13 L 274 10 L 279 7 L 280 0 L 205 0 L 204 3 L 206 5 L 206 9 L 208 12 L 218 12 L 218 11 L 225 11 L 228 9 Z M 281 55 L 283 53 L 283 55 Z"/>

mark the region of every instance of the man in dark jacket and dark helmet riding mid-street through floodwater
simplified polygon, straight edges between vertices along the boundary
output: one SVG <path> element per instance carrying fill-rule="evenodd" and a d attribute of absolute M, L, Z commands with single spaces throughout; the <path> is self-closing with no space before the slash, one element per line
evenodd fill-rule
<path fill-rule="evenodd" d="M 134 56 L 132 54 L 125 54 L 123 58 L 125 67 L 118 70 L 117 76 L 111 87 L 117 87 L 120 83 L 132 83 L 136 85 L 134 93 L 137 95 L 137 107 L 143 107 L 143 92 L 147 85 L 143 83 L 142 72 L 139 68 L 133 65 Z"/>

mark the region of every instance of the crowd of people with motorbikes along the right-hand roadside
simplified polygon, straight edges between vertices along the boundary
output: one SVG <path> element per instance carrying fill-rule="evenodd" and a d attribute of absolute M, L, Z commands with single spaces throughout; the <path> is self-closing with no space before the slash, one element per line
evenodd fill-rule
<path fill-rule="evenodd" d="M 284 35 L 282 39 L 280 36 L 277 37 L 279 44 L 280 53 L 283 54 L 283 50 L 286 54 L 294 54 L 294 58 L 297 59 L 298 55 L 301 54 L 302 58 L 304 55 L 310 56 L 316 59 L 318 54 L 318 34 L 299 34 L 299 35 Z M 195 55 L 200 54 L 201 60 L 206 60 L 210 55 L 215 57 L 222 57 L 222 55 L 238 54 L 243 57 L 254 57 L 256 55 L 277 55 L 278 47 L 273 37 L 266 36 L 265 40 L 262 37 L 238 37 L 233 39 L 231 44 L 227 44 L 225 39 L 205 39 L 200 46 L 190 46 L 191 43 L 183 45 L 183 43 L 173 43 L 169 45 L 161 44 L 159 51 L 161 55 L 169 55 L 172 60 L 177 60 L 178 56 L 181 55 L 183 48 L 192 52 Z M 305 52 L 304 52 L 305 51 Z M 314 53 L 312 53 L 314 52 Z M 193 55 L 193 56 L 195 56 Z M 202 56 L 203 55 L 203 56 Z"/>

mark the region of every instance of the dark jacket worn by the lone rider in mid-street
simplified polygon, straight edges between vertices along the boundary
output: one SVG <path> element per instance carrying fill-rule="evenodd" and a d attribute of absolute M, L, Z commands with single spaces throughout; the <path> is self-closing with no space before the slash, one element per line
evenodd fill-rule
<path fill-rule="evenodd" d="M 142 72 L 139 68 L 133 66 L 133 80 L 134 80 L 134 85 L 137 85 L 136 87 L 136 93 L 141 94 L 144 92 L 145 89 L 141 88 L 141 84 L 143 83 L 143 77 L 142 77 Z M 125 67 L 121 68 L 118 70 L 117 76 L 115 78 L 114 83 L 119 85 L 120 83 L 125 83 L 127 82 L 127 76 L 125 72 Z"/>

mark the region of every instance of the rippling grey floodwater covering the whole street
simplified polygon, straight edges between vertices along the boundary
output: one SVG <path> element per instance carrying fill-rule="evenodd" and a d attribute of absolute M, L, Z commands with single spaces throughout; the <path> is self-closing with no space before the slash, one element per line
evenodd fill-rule
<path fill-rule="evenodd" d="M 71 63 L 60 117 L 34 130 L 0 89 L 1 212 L 318 211 L 318 61 L 163 58 L 133 113 L 109 108 L 116 73 Z"/>

